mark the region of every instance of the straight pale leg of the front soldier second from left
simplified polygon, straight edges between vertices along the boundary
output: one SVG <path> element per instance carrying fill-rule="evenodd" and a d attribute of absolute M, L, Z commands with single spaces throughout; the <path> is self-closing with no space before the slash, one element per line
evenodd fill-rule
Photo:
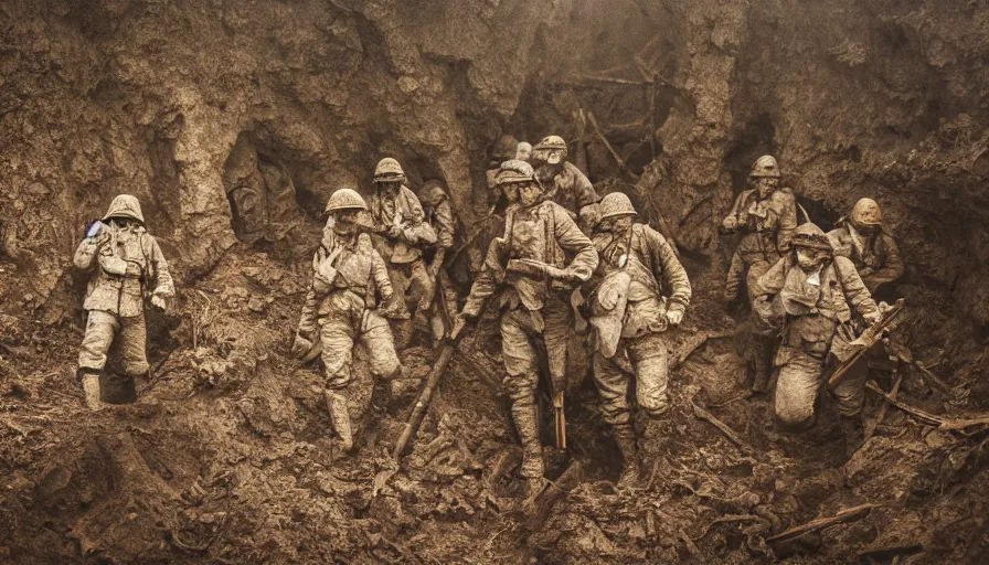
<path fill-rule="evenodd" d="M 350 317 L 343 312 L 330 312 L 319 320 L 322 340 L 322 364 L 327 376 L 325 393 L 327 409 L 333 429 L 340 436 L 343 450 L 353 449 L 353 428 L 350 424 L 347 390 L 350 387 L 353 367 L 354 330 Z"/>

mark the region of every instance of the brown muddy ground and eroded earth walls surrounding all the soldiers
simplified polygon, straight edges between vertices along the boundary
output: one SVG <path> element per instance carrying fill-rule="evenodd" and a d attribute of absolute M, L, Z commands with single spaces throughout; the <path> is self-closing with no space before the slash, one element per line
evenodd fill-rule
<path fill-rule="evenodd" d="M 764 152 L 823 227 L 876 198 L 910 266 L 883 297 L 907 303 L 897 342 L 916 363 L 900 399 L 989 412 L 989 8 L 549 4 L 0 6 L 0 561 L 989 559 L 987 426 L 890 408 L 847 462 L 827 405 L 811 433 L 778 430 L 768 398 L 745 394 L 745 315 L 720 300 L 734 242 L 716 230 Z M 288 359 L 326 196 L 366 193 L 393 154 L 413 188 L 446 180 L 470 225 L 503 132 L 563 135 L 602 192 L 628 192 L 677 242 L 694 282 L 641 489 L 614 484 L 575 355 L 570 449 L 547 449 L 553 484 L 525 503 L 493 319 L 461 344 L 401 467 L 387 452 L 416 379 L 372 387 L 359 371 L 361 446 L 345 457 L 318 366 Z M 151 315 L 140 402 L 91 414 L 72 379 L 84 282 L 68 266 L 117 192 L 141 199 L 179 298 Z M 402 354 L 413 377 L 432 363 L 424 345 Z"/>

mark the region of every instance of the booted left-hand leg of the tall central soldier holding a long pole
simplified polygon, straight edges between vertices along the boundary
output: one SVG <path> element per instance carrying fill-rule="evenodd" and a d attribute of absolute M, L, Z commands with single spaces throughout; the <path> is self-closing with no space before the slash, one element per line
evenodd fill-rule
<path fill-rule="evenodd" d="M 511 401 L 512 420 L 522 443 L 522 477 L 543 476 L 543 448 L 539 440 L 539 412 L 535 387 L 539 384 L 536 351 L 530 340 L 533 331 L 530 312 L 517 309 L 501 319 L 501 344 L 504 358 L 504 388 Z"/>

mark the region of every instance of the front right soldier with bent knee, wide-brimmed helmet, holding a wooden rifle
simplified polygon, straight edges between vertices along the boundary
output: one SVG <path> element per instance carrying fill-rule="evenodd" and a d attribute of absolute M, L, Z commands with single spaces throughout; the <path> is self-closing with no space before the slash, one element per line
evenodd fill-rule
<path fill-rule="evenodd" d="M 815 224 L 797 227 L 790 241 L 794 250 L 776 262 L 754 281 L 754 308 L 775 328 L 783 328 L 776 352 L 779 367 L 774 411 L 788 428 L 813 425 L 815 401 L 828 363 L 841 363 L 853 353 L 853 311 L 865 324 L 882 315 L 859 277 L 855 266 L 832 253 L 828 236 Z M 861 413 L 866 367 L 854 373 L 832 392 L 841 416 L 849 454 L 861 440 Z"/>

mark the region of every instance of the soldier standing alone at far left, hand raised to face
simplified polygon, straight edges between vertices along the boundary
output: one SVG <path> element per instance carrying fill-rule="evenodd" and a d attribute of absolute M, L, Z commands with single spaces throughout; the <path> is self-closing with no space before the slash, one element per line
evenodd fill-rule
<path fill-rule="evenodd" d="M 145 299 L 150 292 L 151 305 L 163 310 L 166 298 L 176 295 L 168 263 L 145 228 L 137 198 L 120 194 L 114 199 L 103 220 L 86 232 L 74 264 L 92 274 L 83 305 L 88 316 L 86 335 L 76 372 L 86 405 L 98 409 L 102 402 L 132 403 L 137 399 L 135 377 L 149 371 Z M 109 388 L 116 394 L 99 386 L 108 353 L 111 374 L 105 382 L 114 384 Z"/>

